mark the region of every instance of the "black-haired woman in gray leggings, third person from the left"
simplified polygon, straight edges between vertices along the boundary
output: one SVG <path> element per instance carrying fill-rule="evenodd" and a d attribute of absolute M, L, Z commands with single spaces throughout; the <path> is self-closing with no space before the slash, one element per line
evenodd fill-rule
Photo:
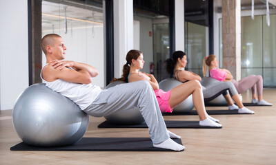
<path fill-rule="evenodd" d="M 182 70 L 183 67 L 186 67 L 187 64 L 187 56 L 182 51 L 177 51 L 172 54 L 172 58 L 168 58 L 166 60 L 166 69 L 167 71 L 175 76 L 176 80 L 180 82 L 187 82 L 190 80 L 201 80 L 201 77 L 193 72 Z M 239 113 L 255 113 L 250 109 L 244 107 L 242 101 L 239 100 L 239 95 L 237 94 L 237 90 L 235 86 L 230 82 L 218 82 L 213 83 L 212 85 L 208 85 L 208 87 L 202 87 L 204 102 L 209 102 L 214 98 L 217 98 L 219 95 L 223 95 L 228 103 L 228 109 L 239 109 Z M 229 94 L 228 94 L 229 91 Z M 236 102 L 237 105 L 232 101 Z"/>

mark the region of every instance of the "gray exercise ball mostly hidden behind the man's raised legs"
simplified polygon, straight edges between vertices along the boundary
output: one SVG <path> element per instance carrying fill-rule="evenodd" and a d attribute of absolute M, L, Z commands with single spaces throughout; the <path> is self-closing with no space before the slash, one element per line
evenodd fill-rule
<path fill-rule="evenodd" d="M 115 87 L 116 85 L 121 85 L 126 82 L 124 81 L 115 81 L 113 83 L 110 83 L 106 89 L 110 87 Z M 124 125 L 131 125 L 131 124 L 141 124 L 144 122 L 144 118 L 141 115 L 141 112 L 139 111 L 138 107 L 133 107 L 133 109 L 124 109 L 124 111 L 118 111 L 115 113 L 112 113 L 111 115 L 104 116 L 108 122 L 111 122 L 112 124 L 124 124 Z"/>

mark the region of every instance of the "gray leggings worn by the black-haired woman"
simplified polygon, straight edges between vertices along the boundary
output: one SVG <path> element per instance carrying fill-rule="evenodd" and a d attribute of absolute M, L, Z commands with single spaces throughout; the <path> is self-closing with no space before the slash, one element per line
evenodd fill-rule
<path fill-rule="evenodd" d="M 217 98 L 217 96 L 221 94 L 225 96 L 226 94 L 228 94 L 227 91 L 229 91 L 231 97 L 237 94 L 237 90 L 233 83 L 222 81 L 213 83 L 211 85 L 208 85 L 207 87 L 203 87 L 202 91 L 204 96 L 204 102 L 209 102 L 210 100 Z"/>

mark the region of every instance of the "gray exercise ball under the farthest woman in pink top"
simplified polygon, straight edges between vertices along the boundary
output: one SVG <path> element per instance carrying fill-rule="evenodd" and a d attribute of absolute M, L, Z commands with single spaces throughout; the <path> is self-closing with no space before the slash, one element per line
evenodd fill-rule
<path fill-rule="evenodd" d="M 211 77 L 204 77 L 201 79 L 201 85 L 203 87 L 208 88 L 209 85 L 214 84 L 219 82 L 219 80 L 215 79 L 215 78 L 211 78 Z M 217 98 L 214 98 L 213 100 L 211 100 L 210 102 L 208 102 L 208 104 L 212 105 L 212 104 L 216 104 L 216 105 L 224 105 L 227 104 L 224 96 L 221 94 L 219 95 Z"/>

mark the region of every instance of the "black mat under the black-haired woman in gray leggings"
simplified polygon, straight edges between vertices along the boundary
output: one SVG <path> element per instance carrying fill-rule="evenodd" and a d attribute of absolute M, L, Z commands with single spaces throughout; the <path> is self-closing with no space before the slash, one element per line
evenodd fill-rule
<path fill-rule="evenodd" d="M 206 110 L 208 115 L 252 115 L 250 113 L 238 113 L 238 110 Z M 197 111 L 193 110 L 188 113 L 162 113 L 162 115 L 197 115 Z"/>

